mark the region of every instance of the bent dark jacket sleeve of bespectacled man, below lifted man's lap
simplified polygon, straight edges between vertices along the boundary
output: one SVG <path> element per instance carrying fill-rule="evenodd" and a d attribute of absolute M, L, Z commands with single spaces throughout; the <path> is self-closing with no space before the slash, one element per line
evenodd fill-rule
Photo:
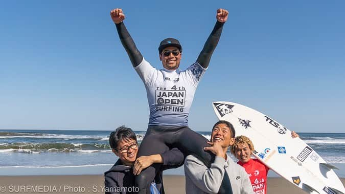
<path fill-rule="evenodd" d="M 177 168 L 183 165 L 183 162 L 185 161 L 185 156 L 176 147 L 160 154 L 160 156 L 163 158 L 163 165 L 160 167 L 161 170 Z"/>

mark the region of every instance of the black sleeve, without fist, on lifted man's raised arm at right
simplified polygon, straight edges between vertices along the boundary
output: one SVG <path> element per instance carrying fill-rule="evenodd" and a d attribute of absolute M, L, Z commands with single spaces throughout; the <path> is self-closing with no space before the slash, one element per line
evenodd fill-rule
<path fill-rule="evenodd" d="M 203 46 L 202 51 L 200 52 L 197 61 L 204 68 L 209 67 L 211 56 L 213 51 L 216 49 L 220 35 L 223 30 L 224 23 L 217 21 L 215 27 L 213 28 L 209 38 L 206 40 L 205 45 Z"/>

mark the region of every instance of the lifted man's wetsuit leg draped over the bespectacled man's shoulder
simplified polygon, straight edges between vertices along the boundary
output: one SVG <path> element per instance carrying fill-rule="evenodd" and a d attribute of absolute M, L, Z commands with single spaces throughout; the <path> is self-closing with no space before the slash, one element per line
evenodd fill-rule
<path fill-rule="evenodd" d="M 156 134 L 150 128 L 147 130 L 145 137 L 139 147 L 137 157 L 150 156 L 153 154 L 162 154 L 169 150 L 169 147 L 160 140 L 159 134 Z M 150 185 L 156 174 L 159 172 L 160 165 L 152 164 L 144 169 L 140 175 L 135 176 L 135 187 L 139 188 L 138 193 L 150 194 Z"/>

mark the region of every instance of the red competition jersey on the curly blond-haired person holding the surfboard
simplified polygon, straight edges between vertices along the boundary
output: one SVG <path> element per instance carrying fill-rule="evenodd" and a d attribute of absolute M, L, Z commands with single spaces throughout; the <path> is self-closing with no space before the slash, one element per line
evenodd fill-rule
<path fill-rule="evenodd" d="M 267 172 L 269 168 L 258 159 L 250 159 L 247 163 L 237 162 L 247 172 L 251 186 L 256 194 L 267 192 Z"/>

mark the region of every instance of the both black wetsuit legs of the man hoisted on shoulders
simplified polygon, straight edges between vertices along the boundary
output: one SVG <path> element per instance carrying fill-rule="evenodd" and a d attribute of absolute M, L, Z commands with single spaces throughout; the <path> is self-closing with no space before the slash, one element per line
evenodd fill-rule
<path fill-rule="evenodd" d="M 177 147 L 186 156 L 193 154 L 203 161 L 206 166 L 210 167 L 215 155 L 203 150 L 203 147 L 210 146 L 207 141 L 209 140 L 192 131 L 187 126 L 149 127 L 139 148 L 138 157 L 162 154 L 169 147 Z M 139 187 L 139 193 L 150 194 L 150 184 L 158 173 L 159 167 L 159 164 L 153 164 L 144 169 L 139 176 L 135 177 L 135 186 Z M 232 193 L 230 181 L 227 176 L 224 177 L 227 179 L 223 179 L 219 193 Z"/>

